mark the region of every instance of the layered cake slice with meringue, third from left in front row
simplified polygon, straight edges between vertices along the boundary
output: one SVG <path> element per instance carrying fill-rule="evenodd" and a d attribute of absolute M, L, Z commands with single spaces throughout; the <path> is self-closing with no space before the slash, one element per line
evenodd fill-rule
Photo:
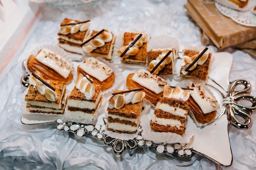
<path fill-rule="evenodd" d="M 115 91 L 115 93 L 118 92 L 121 91 Z M 122 91 L 120 94 L 115 93 L 109 99 L 107 129 L 118 133 L 136 133 L 145 92 Z"/>

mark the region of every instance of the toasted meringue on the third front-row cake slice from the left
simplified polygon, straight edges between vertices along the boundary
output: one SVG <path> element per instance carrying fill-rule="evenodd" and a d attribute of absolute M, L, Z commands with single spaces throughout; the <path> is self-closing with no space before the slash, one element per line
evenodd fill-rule
<path fill-rule="evenodd" d="M 145 95 L 146 93 L 144 91 L 132 91 L 129 93 L 115 95 L 113 97 L 110 97 L 108 108 L 120 109 L 125 104 L 138 103 L 145 97 Z"/>

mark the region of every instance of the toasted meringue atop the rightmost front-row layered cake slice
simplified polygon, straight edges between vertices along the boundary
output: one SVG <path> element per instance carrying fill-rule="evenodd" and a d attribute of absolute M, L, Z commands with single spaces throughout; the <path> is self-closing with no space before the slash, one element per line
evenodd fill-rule
<path fill-rule="evenodd" d="M 189 99 L 189 96 L 190 96 L 190 90 L 183 90 L 179 86 L 176 86 L 173 89 L 168 84 L 164 86 L 164 97 L 180 99 L 186 102 Z"/>

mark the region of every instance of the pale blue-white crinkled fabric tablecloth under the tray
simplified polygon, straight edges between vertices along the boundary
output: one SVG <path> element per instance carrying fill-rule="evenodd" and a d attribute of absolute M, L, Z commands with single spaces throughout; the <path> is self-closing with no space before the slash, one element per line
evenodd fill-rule
<path fill-rule="evenodd" d="M 56 124 L 26 126 L 20 97 L 25 87 L 20 78 L 25 73 L 22 61 L 37 46 L 58 44 L 58 28 L 63 18 L 90 19 L 99 27 L 118 34 L 127 27 L 136 27 L 153 35 L 170 35 L 180 44 L 202 46 L 200 28 L 186 13 L 186 0 L 167 0 L 153 4 L 148 0 L 101 0 L 96 5 L 74 9 L 58 9 L 41 4 L 43 17 L 11 71 L 0 84 L 0 169 L 4 170 L 248 170 L 256 169 L 256 114 L 249 130 L 229 127 L 233 164 L 219 166 L 208 159 L 194 155 L 189 161 L 179 161 L 166 155 L 157 155 L 152 148 L 138 148 L 133 156 L 128 152 L 115 155 L 112 148 L 89 135 L 77 135 L 56 129 Z M 209 46 L 215 52 L 216 47 Z M 234 62 L 230 81 L 247 79 L 256 95 L 256 60 L 247 53 L 228 48 Z"/>

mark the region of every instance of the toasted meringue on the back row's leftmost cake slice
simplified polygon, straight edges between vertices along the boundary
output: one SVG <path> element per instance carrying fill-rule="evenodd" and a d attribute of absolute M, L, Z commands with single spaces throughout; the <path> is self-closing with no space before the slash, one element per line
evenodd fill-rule
<path fill-rule="evenodd" d="M 67 24 L 71 24 L 71 23 L 76 23 L 76 22 L 71 21 Z M 61 26 L 58 32 L 63 35 L 67 35 L 69 33 L 74 34 L 74 33 L 77 33 L 78 31 L 88 30 L 90 24 L 91 24 L 90 22 L 85 22 L 85 23 L 81 23 L 81 24 Z"/>

